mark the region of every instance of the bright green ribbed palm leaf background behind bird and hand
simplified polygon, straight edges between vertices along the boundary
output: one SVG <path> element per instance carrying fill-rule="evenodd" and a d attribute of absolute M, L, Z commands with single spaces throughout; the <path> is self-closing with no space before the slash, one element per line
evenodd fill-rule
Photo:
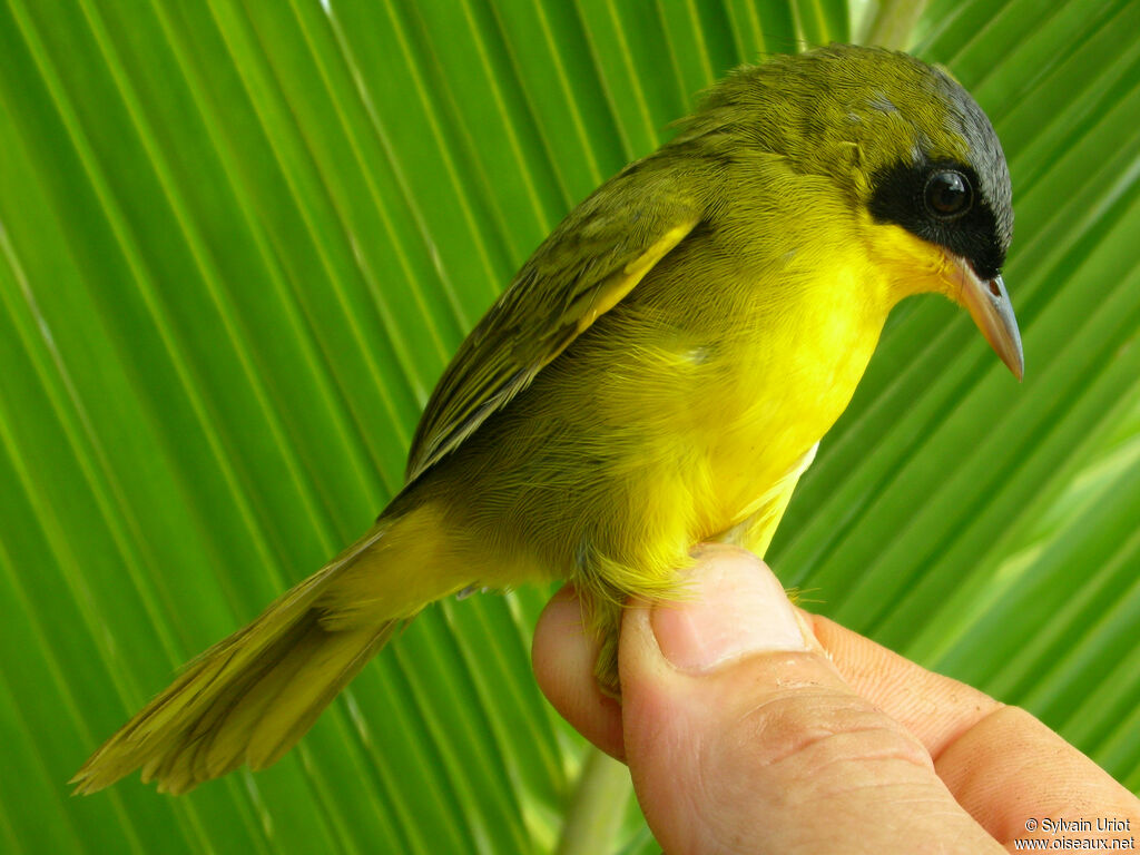
<path fill-rule="evenodd" d="M 1140 5 L 914 8 L 0 2 L 0 849 L 654 850 L 534 686 L 535 589 L 430 610 L 270 771 L 65 781 L 367 526 L 577 199 L 735 64 L 829 40 L 911 44 L 993 119 L 1027 373 L 905 303 L 768 559 L 1140 789 Z"/>

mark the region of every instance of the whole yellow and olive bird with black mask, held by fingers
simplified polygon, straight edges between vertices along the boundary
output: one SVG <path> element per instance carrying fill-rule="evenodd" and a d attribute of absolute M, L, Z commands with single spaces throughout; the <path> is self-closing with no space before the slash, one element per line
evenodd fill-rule
<path fill-rule="evenodd" d="M 966 307 L 1021 376 L 1009 173 L 945 72 L 832 46 L 738 68 L 576 207 L 448 366 L 373 528 L 194 660 L 74 779 L 276 762 L 427 603 L 563 577 L 603 640 L 702 540 L 763 554 L 891 307 Z"/>

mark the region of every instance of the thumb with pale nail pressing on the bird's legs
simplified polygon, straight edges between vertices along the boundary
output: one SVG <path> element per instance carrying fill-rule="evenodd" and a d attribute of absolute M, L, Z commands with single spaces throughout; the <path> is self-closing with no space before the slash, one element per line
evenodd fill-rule
<path fill-rule="evenodd" d="M 751 554 L 703 547 L 683 601 L 626 612 L 619 654 L 626 758 L 666 852 L 1003 852 Z"/>

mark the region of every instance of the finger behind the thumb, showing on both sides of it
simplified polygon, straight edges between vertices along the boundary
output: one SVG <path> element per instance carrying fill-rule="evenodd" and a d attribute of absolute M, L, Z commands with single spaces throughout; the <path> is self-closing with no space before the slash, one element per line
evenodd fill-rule
<path fill-rule="evenodd" d="M 1044 817 L 1098 820 L 1107 836 L 1140 803 L 1084 755 L 1027 714 L 958 681 L 929 671 L 833 621 L 801 612 L 844 678 L 901 722 L 936 758 L 951 792 L 995 838 L 1040 833 Z M 545 612 L 535 640 L 539 683 L 552 703 L 587 739 L 624 758 L 621 710 L 597 691 L 596 643 L 583 632 L 580 605 L 565 588 Z M 953 750 L 948 750 L 953 749 Z M 1033 774 L 1024 774 L 1034 769 Z M 1125 836 L 1131 833 L 1124 829 Z"/>

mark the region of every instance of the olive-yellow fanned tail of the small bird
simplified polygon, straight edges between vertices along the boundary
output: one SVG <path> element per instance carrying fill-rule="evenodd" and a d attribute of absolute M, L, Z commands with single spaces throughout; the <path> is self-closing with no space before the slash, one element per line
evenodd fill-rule
<path fill-rule="evenodd" d="M 141 767 L 144 782 L 181 793 L 243 763 L 254 769 L 276 763 L 398 626 L 463 587 L 424 572 L 430 564 L 421 562 L 434 557 L 431 532 L 404 521 L 382 519 L 187 665 L 91 755 L 71 781 L 75 792 L 95 792 Z M 424 578 L 437 580 L 434 589 L 425 589 Z"/>

